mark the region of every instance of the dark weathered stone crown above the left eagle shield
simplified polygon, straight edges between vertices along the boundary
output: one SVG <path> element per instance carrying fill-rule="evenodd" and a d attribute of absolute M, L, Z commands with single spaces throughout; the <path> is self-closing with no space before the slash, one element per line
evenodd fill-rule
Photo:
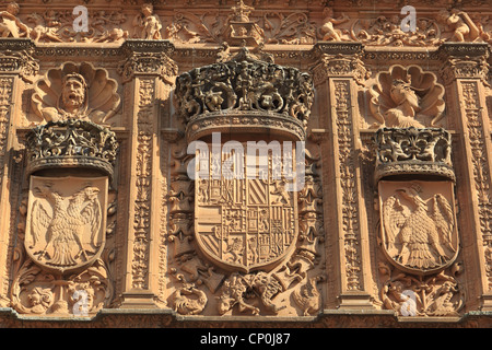
<path fill-rule="evenodd" d="M 116 135 L 92 121 L 49 121 L 27 135 L 27 176 L 38 171 L 82 167 L 113 178 L 118 142 Z"/>

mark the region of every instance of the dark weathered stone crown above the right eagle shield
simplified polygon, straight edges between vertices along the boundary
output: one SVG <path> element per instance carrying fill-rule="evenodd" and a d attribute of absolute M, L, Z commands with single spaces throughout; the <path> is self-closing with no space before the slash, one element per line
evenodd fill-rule
<path fill-rule="evenodd" d="M 376 145 L 375 180 L 424 175 L 455 180 L 450 133 L 442 128 L 380 128 Z"/>

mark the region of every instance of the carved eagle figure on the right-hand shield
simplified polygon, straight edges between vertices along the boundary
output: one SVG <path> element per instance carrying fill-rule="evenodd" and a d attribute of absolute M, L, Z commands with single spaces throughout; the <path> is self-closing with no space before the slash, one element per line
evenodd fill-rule
<path fill-rule="evenodd" d="M 435 269 L 457 252 L 452 206 L 441 194 L 422 199 L 417 184 L 397 189 L 385 200 L 383 224 L 386 253 L 405 267 Z"/>

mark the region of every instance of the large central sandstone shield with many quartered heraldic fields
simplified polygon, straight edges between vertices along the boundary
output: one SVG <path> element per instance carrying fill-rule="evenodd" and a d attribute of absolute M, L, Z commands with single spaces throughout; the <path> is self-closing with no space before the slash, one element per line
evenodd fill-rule
<path fill-rule="evenodd" d="M 263 160 L 251 171 L 241 152 L 197 154 L 196 240 L 200 252 L 226 270 L 269 269 L 295 247 L 296 192 L 276 176 L 280 159 L 269 154 Z"/>

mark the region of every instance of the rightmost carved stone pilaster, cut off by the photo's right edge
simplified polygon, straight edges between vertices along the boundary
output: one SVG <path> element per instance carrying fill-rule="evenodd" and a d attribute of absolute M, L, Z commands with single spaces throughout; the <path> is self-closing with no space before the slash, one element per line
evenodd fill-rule
<path fill-rule="evenodd" d="M 448 115 L 458 133 L 455 148 L 460 178 L 457 198 L 464 264 L 473 271 L 467 306 L 492 310 L 492 143 L 485 88 L 490 49 L 487 44 L 446 43 L 441 73 L 448 95 Z M 466 229 L 465 229 L 466 228 Z"/>

